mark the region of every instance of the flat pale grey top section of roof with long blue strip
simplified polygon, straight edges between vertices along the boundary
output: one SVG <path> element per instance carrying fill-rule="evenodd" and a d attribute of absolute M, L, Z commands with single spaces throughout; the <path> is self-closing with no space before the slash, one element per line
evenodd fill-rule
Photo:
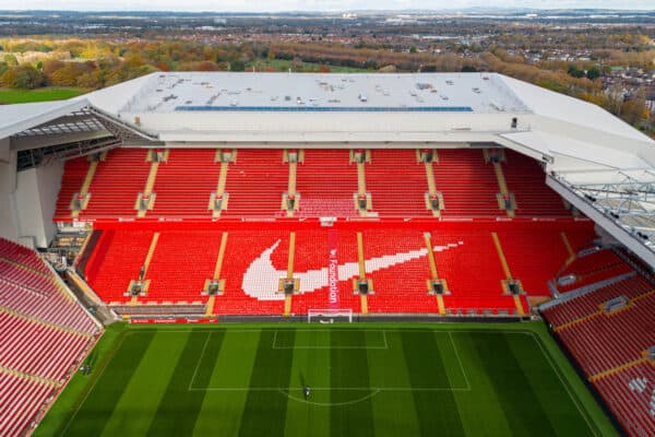
<path fill-rule="evenodd" d="M 152 74 L 120 113 L 175 111 L 525 113 L 496 74 Z"/>

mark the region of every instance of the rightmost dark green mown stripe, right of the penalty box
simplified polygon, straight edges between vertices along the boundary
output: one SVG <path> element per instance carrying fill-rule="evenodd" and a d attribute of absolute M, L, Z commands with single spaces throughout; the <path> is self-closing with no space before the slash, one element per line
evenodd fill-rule
<path fill-rule="evenodd" d="M 474 336 L 480 366 L 487 373 L 515 436 L 555 436 L 557 433 L 533 392 L 516 356 L 503 333 L 478 333 Z M 537 376 L 540 377 L 540 376 Z"/>

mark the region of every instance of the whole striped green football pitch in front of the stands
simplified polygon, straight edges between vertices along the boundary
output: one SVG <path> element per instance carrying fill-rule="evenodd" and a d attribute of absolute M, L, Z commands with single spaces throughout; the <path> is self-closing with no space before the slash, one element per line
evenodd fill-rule
<path fill-rule="evenodd" d="M 616 435 L 540 323 L 118 324 L 88 361 L 36 436 Z"/>

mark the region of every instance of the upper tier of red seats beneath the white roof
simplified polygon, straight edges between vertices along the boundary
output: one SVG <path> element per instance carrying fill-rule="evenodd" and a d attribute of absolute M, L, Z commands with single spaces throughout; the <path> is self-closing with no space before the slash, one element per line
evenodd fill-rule
<path fill-rule="evenodd" d="M 160 162 L 152 192 L 153 209 L 146 218 L 175 217 L 212 220 L 210 197 L 217 190 L 221 163 L 217 149 L 172 149 Z M 502 164 L 508 189 L 517 202 L 517 216 L 570 216 L 561 199 L 545 185 L 539 164 L 505 151 Z M 238 150 L 227 166 L 227 209 L 222 217 L 271 218 L 286 216 L 283 194 L 289 188 L 289 165 L 283 150 Z M 355 217 L 353 196 L 358 190 L 357 165 L 348 150 L 302 151 L 297 164 L 295 217 Z M 145 149 L 117 149 L 107 153 L 90 179 L 88 204 L 79 214 L 84 218 L 136 217 L 136 198 L 145 189 L 151 163 Z M 372 212 L 381 217 L 430 217 L 426 209 L 428 177 L 416 150 L 371 149 L 365 165 L 366 189 Z M 72 220 L 71 200 L 79 192 L 90 168 L 86 158 L 67 162 L 55 220 Z M 436 190 L 442 194 L 444 217 L 496 217 L 500 191 L 493 165 L 485 163 L 479 149 L 440 149 L 431 164 Z"/>

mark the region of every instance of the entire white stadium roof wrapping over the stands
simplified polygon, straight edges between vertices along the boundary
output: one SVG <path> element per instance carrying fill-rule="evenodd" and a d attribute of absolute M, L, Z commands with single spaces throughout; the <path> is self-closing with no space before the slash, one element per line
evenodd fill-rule
<path fill-rule="evenodd" d="M 21 150 L 94 126 L 128 145 L 500 144 L 545 163 L 556 190 L 612 222 L 626 245 L 636 238 L 655 265 L 655 142 L 596 105 L 501 74 L 153 73 L 68 102 L 0 106 L 0 140 Z M 584 196 L 599 185 L 611 188 Z"/>

